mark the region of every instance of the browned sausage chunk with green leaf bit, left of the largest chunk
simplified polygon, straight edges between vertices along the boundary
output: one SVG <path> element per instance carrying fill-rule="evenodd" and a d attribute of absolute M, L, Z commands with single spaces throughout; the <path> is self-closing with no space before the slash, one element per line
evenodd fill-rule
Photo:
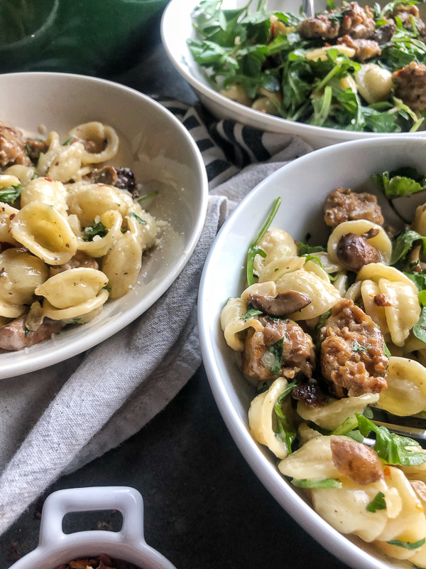
<path fill-rule="evenodd" d="M 262 380 L 276 378 L 271 367 L 265 363 L 270 346 L 283 338 L 283 356 L 279 376 L 294 378 L 304 373 L 310 378 L 315 367 L 315 351 L 312 338 L 305 334 L 293 320 L 271 320 L 262 317 L 263 331 L 249 329 L 242 353 L 243 372 Z"/>

